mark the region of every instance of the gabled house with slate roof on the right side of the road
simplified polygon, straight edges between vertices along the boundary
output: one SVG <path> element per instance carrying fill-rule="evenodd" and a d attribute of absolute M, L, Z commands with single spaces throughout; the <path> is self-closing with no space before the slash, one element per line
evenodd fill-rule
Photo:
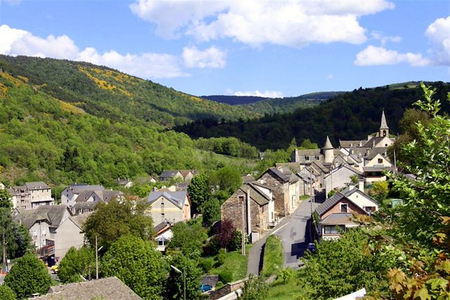
<path fill-rule="evenodd" d="M 340 237 L 342 231 L 359 226 L 352 221 L 354 215 L 370 215 L 376 210 L 378 203 L 372 197 L 354 186 L 349 186 L 317 207 L 315 213 L 319 223 L 316 226 L 323 240 L 335 240 Z"/>

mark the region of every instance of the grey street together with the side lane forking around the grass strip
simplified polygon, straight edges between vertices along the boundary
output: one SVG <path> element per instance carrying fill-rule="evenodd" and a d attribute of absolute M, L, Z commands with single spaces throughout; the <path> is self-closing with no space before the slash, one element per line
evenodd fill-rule
<path fill-rule="evenodd" d="M 314 204 L 314 209 L 319 203 Z M 311 216 L 311 200 L 304 200 L 289 217 L 283 219 L 275 228 L 267 233 L 261 240 L 257 241 L 248 254 L 247 274 L 259 275 L 262 269 L 263 246 L 269 235 L 281 237 L 284 249 L 284 266 L 298 268 L 298 259 L 307 249 L 309 236 L 305 237 L 309 216 Z"/>

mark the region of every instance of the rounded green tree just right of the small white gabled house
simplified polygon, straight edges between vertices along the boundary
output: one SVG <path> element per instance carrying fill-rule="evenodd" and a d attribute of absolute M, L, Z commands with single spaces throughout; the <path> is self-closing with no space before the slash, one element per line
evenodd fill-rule
<path fill-rule="evenodd" d="M 203 242 L 207 239 L 205 229 L 198 223 L 176 223 L 172 227 L 174 236 L 167 247 L 182 254 L 198 258 L 202 253 Z"/>

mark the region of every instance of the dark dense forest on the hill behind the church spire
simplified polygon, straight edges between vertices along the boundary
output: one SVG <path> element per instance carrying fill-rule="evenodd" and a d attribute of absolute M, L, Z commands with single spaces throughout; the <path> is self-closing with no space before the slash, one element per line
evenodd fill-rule
<path fill-rule="evenodd" d="M 427 84 L 437 89 L 438 99 L 445 99 L 450 91 L 449 83 Z M 234 136 L 259 150 L 284 149 L 293 137 L 299 142 L 309 139 L 323 145 L 326 136 L 330 136 L 333 145 L 338 145 L 339 139 L 363 139 L 377 131 L 383 109 L 391 133 L 399 133 L 401 116 L 420 98 L 423 98 L 423 91 L 416 84 L 360 88 L 335 96 L 316 107 L 297 109 L 288 114 L 226 123 L 203 119 L 179 126 L 176 130 L 187 133 L 191 138 Z M 443 112 L 450 112 L 449 103 L 442 102 L 442 108 Z"/>

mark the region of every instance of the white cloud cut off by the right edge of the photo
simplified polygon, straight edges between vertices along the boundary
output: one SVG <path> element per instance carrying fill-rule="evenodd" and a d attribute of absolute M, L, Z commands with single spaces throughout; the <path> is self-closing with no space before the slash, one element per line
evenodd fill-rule
<path fill-rule="evenodd" d="M 432 22 L 425 32 L 432 48 L 428 51 L 435 65 L 450 65 L 450 16 Z"/>

